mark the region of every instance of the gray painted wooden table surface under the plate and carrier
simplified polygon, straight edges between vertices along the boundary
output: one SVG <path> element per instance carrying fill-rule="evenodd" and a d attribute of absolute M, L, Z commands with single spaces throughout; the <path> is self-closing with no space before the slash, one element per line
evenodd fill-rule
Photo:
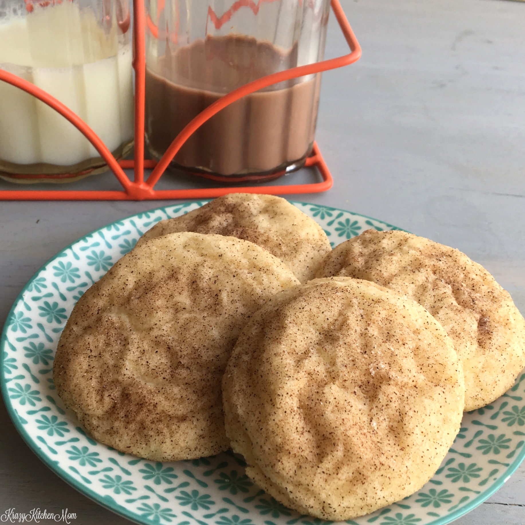
<path fill-rule="evenodd" d="M 342 4 L 363 58 L 323 79 L 317 140 L 335 185 L 291 198 L 350 209 L 457 247 L 491 271 L 525 313 L 525 3 Z M 343 53 L 332 20 L 327 54 Z M 99 175 L 81 186 L 111 184 Z M 163 204 L 2 202 L 0 323 L 24 283 L 61 248 Z M 0 423 L 0 514 L 67 507 L 77 513 L 75 523 L 129 523 L 40 463 L 3 406 Z M 456 523 L 525 523 L 525 467 Z"/>

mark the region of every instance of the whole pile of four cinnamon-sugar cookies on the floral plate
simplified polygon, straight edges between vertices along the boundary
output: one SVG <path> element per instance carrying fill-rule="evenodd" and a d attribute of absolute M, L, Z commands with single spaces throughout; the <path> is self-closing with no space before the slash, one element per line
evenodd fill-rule
<path fill-rule="evenodd" d="M 159 223 L 80 298 L 54 379 L 102 443 L 232 447 L 278 501 L 346 520 L 421 488 L 523 366 L 525 321 L 459 251 L 398 231 L 331 250 L 285 199 L 236 194 Z"/>

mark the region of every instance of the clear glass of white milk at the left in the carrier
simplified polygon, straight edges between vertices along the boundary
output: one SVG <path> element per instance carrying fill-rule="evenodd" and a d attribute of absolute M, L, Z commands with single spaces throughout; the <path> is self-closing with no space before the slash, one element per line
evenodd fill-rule
<path fill-rule="evenodd" d="M 128 0 L 0 0 L 0 68 L 74 111 L 116 158 L 133 145 Z M 107 170 L 55 110 L 0 81 L 0 177 L 66 182 Z"/>

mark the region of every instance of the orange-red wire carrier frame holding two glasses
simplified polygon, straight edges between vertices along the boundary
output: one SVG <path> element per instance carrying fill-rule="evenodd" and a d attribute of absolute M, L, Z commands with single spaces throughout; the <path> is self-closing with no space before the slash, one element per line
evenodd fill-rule
<path fill-rule="evenodd" d="M 133 69 L 135 70 L 135 146 L 134 160 L 117 161 L 109 149 L 100 140 L 98 135 L 76 113 L 52 97 L 44 90 L 12 73 L 0 69 L 0 80 L 7 82 L 46 103 L 58 111 L 64 118 L 78 128 L 87 139 L 95 146 L 100 156 L 107 162 L 109 168 L 122 185 L 121 191 L 109 190 L 2 190 L 0 200 L 4 201 L 143 201 L 146 199 L 190 199 L 219 197 L 227 193 L 268 193 L 268 194 L 300 194 L 317 193 L 329 190 L 333 178 L 325 164 L 317 143 L 314 143 L 312 155 L 307 159 L 306 166 L 317 166 L 322 182 L 312 184 L 272 185 L 272 186 L 227 186 L 212 188 L 191 188 L 186 190 L 155 190 L 154 186 L 181 149 L 190 135 L 216 113 L 239 100 L 254 93 L 259 89 L 267 88 L 278 82 L 313 75 L 322 71 L 336 69 L 353 64 L 361 57 L 361 47 L 355 38 L 352 28 L 344 15 L 338 0 L 331 0 L 331 7 L 335 18 L 341 27 L 343 35 L 350 47 L 350 53 L 341 57 L 332 58 L 280 71 L 266 77 L 249 82 L 244 86 L 228 93 L 216 100 L 211 106 L 199 113 L 175 137 L 170 147 L 166 150 L 159 162 L 144 160 L 144 100 L 145 100 L 145 10 L 143 0 L 133 0 Z M 1 118 L 1 117 L 0 117 Z M 144 168 L 153 169 L 147 179 L 144 179 Z M 125 174 L 124 169 L 133 169 L 133 180 Z"/>

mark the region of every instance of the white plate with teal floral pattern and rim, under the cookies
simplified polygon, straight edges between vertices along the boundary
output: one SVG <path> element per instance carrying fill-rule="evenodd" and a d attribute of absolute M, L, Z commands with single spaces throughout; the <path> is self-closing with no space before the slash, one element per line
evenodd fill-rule
<path fill-rule="evenodd" d="M 97 443 L 53 385 L 60 332 L 79 297 L 159 220 L 205 201 L 139 213 L 104 226 L 47 262 L 16 300 L 0 342 L 2 394 L 31 449 L 61 478 L 132 521 L 173 525 L 322 525 L 289 510 L 245 475 L 241 457 L 159 463 Z M 342 209 L 293 203 L 324 228 L 332 245 L 365 229 L 394 226 Z M 497 401 L 465 414 L 435 476 L 412 496 L 346 523 L 449 523 L 500 488 L 525 456 L 525 373 Z M 331 522 L 327 522 L 331 523 Z"/>

